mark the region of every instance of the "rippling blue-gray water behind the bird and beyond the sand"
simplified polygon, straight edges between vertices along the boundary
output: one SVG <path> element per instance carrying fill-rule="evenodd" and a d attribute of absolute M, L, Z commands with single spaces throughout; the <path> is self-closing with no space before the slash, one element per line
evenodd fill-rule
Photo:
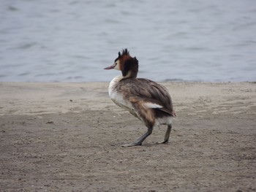
<path fill-rule="evenodd" d="M 255 0 L 0 0 L 0 81 L 255 81 Z"/>

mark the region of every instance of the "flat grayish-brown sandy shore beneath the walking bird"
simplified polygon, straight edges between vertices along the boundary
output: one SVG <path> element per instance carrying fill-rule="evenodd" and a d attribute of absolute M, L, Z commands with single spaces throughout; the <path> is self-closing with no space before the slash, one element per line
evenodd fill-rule
<path fill-rule="evenodd" d="M 162 83 L 178 119 L 145 131 L 107 82 L 0 83 L 0 191 L 256 191 L 256 84 Z"/>

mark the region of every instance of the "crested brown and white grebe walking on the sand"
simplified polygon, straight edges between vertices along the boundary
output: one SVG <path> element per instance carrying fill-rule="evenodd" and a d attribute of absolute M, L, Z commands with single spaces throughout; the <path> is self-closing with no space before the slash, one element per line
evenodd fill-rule
<path fill-rule="evenodd" d="M 170 138 L 173 118 L 173 102 L 170 93 L 163 85 L 145 78 L 138 78 L 138 59 L 132 57 L 127 49 L 123 49 L 115 59 L 113 65 L 104 69 L 116 69 L 121 75 L 114 77 L 108 87 L 110 99 L 119 107 L 129 111 L 141 120 L 148 128 L 145 134 L 135 142 L 121 145 L 132 147 L 142 145 L 143 141 L 151 135 L 154 128 L 167 125 L 164 141 Z"/>

